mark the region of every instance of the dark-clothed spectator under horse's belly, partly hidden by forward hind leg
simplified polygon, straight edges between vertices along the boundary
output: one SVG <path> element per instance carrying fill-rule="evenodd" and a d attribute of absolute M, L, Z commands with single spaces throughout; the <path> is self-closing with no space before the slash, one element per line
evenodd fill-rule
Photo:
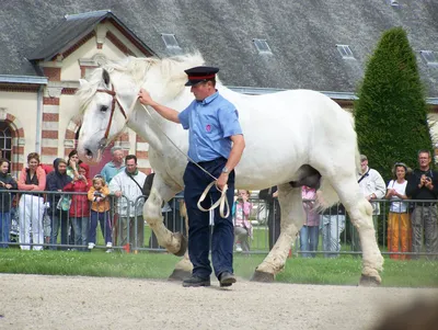
<path fill-rule="evenodd" d="M 277 186 L 264 189 L 258 193 L 258 198 L 266 201 L 266 207 L 268 209 L 267 228 L 269 236 L 269 251 L 273 249 L 275 242 L 280 236 L 281 212 L 277 196 Z"/>

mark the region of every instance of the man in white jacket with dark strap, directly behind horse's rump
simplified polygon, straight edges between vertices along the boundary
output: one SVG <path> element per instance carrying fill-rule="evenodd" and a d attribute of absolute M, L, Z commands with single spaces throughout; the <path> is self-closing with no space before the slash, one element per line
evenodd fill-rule
<path fill-rule="evenodd" d="M 376 238 L 378 237 L 378 216 L 380 214 L 379 202 L 372 202 L 374 200 L 382 200 L 387 191 L 382 175 L 374 169 L 368 167 L 368 158 L 365 155 L 360 155 L 360 169 L 358 183 L 360 191 L 368 202 L 372 205 L 372 223 L 374 225 Z M 351 251 L 360 251 L 359 234 L 356 228 L 351 226 Z"/>

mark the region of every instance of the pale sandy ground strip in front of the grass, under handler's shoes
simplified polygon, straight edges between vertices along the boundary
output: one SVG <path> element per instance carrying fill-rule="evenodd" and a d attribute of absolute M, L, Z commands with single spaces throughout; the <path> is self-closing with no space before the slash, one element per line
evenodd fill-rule
<path fill-rule="evenodd" d="M 418 296 L 438 289 L 0 274 L 0 329 L 371 329 Z"/>

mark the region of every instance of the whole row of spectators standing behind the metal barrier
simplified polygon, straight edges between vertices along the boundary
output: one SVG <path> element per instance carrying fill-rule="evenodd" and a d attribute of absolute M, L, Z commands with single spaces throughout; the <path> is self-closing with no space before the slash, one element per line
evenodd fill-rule
<path fill-rule="evenodd" d="M 119 147 L 112 149 L 112 161 L 94 178 L 90 178 L 88 164 L 79 159 L 76 150 L 68 155 L 67 160 L 56 158 L 53 166 L 41 164 L 38 153 L 32 152 L 18 179 L 9 173 L 10 162 L 0 159 L 0 248 L 9 246 L 14 213 L 18 214 L 20 228 L 18 240 L 23 250 L 42 250 L 43 243 L 49 243 L 48 248 L 54 250 L 92 250 L 97 241 L 97 223 L 107 252 L 113 251 L 113 242 L 145 247 L 142 204 L 149 195 L 153 173 L 146 175 L 139 171 L 136 156 L 124 158 Z M 360 161 L 358 183 L 364 196 L 371 203 L 376 236 L 379 228 L 385 228 L 384 244 L 390 258 L 418 258 L 424 244 L 427 258 L 436 259 L 438 173 L 430 168 L 430 152 L 418 152 L 418 168 L 415 170 L 405 163 L 395 163 L 393 178 L 388 184 L 378 171 L 368 166 L 365 155 L 360 156 Z M 110 198 L 111 195 L 117 198 Z M 257 207 L 250 197 L 249 191 L 239 190 L 232 209 L 237 252 L 249 253 L 254 237 L 251 214 Z M 270 250 L 280 234 L 277 187 L 260 191 L 258 197 L 258 203 L 265 203 L 267 208 Z M 326 258 L 338 257 L 342 234 L 346 228 L 345 207 L 337 204 L 318 213 L 313 207 L 315 190 L 307 186 L 302 187 L 302 198 L 306 223 L 298 239 L 301 255 L 315 257 L 320 249 Z M 388 217 L 382 216 L 387 212 L 383 198 L 389 200 Z M 162 214 L 170 230 L 185 232 L 185 221 L 178 209 L 180 203 L 172 200 L 163 205 Z M 382 219 L 385 224 L 379 226 Z M 354 226 L 349 228 L 351 250 L 360 252 L 359 235 Z M 153 234 L 148 246 L 159 248 Z"/>

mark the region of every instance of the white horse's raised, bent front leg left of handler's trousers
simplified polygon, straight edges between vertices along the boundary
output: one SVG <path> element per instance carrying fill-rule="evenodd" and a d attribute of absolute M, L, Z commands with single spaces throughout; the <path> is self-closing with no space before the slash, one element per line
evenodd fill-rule
<path fill-rule="evenodd" d="M 148 201 L 143 206 L 143 217 L 157 236 L 158 243 L 169 252 L 182 257 L 187 249 L 187 239 L 181 232 L 172 232 L 165 228 L 161 207 L 163 201 L 175 196 L 175 191 L 166 185 L 157 173 Z"/>

